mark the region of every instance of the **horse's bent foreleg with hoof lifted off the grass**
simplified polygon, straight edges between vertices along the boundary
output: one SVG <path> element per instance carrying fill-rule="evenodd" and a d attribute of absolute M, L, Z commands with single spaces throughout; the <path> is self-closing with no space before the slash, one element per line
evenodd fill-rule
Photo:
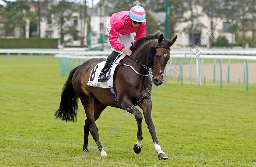
<path fill-rule="evenodd" d="M 131 113 L 134 115 L 136 121 L 137 121 L 137 125 L 138 125 L 138 132 L 137 132 L 137 143 L 134 144 L 133 146 L 133 151 L 137 154 L 139 154 L 141 152 L 141 141 L 143 139 L 142 137 L 142 132 L 141 132 L 141 122 L 142 122 L 142 114 L 139 110 L 137 110 L 137 108 L 135 108 L 132 104 L 132 102 L 130 101 L 130 99 L 128 97 L 124 97 L 122 102 L 120 103 L 120 108 L 126 110 L 127 112 Z M 125 113 L 124 116 L 126 117 Z M 126 117 L 127 119 L 129 119 L 128 117 Z"/>

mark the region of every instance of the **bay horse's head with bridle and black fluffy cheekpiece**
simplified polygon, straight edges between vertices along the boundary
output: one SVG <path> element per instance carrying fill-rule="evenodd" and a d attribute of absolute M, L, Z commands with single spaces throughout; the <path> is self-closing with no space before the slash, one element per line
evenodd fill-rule
<path fill-rule="evenodd" d="M 156 86 L 161 85 L 164 81 L 163 74 L 165 66 L 170 58 L 170 47 L 176 41 L 176 39 L 177 36 L 168 41 L 164 39 L 162 34 L 159 36 L 157 44 L 155 46 L 151 46 L 148 51 L 148 57 L 151 57 L 153 61 L 147 60 L 147 63 L 152 62 L 152 64 L 149 66 L 151 67 L 151 71 L 153 73 L 152 83 Z"/>

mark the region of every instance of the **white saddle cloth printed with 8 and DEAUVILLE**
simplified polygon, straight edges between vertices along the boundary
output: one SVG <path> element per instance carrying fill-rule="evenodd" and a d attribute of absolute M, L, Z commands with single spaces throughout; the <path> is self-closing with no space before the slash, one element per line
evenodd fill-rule
<path fill-rule="evenodd" d="M 119 63 L 120 60 L 122 60 L 126 55 L 122 54 L 115 62 Z M 108 88 L 113 87 L 113 78 L 114 78 L 114 72 L 116 69 L 116 66 L 118 64 L 113 63 L 112 66 L 110 66 L 110 75 L 108 75 L 109 71 L 107 72 L 106 76 L 109 76 L 110 78 L 108 79 L 108 81 L 103 81 L 103 82 L 98 82 L 98 77 L 101 73 L 101 70 L 103 69 L 106 61 L 103 61 L 101 63 L 98 63 L 92 70 L 90 73 L 90 78 L 88 80 L 87 85 L 92 86 L 92 87 L 101 87 L 101 88 Z"/>

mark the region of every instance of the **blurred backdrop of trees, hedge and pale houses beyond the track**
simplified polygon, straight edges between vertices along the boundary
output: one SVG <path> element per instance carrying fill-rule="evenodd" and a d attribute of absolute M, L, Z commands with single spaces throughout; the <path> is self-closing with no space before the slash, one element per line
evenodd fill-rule
<path fill-rule="evenodd" d="M 211 32 L 210 42 L 198 44 L 255 47 L 255 0 L 0 0 L 0 48 L 108 49 L 107 19 L 134 5 L 146 10 L 146 35 L 178 35 L 177 48 L 196 45 L 223 18 L 226 24 L 219 22 L 223 28 Z"/>

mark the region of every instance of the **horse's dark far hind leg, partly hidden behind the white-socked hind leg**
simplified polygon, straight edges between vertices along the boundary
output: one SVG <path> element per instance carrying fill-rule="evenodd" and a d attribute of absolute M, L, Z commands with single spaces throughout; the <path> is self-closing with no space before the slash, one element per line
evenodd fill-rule
<path fill-rule="evenodd" d="M 94 100 L 94 119 L 97 121 L 97 119 L 100 117 L 101 112 L 106 108 L 107 106 L 105 104 L 102 104 L 98 99 L 95 98 Z M 88 152 L 88 137 L 89 137 L 89 122 L 86 119 L 84 121 L 84 147 L 83 152 Z"/>

